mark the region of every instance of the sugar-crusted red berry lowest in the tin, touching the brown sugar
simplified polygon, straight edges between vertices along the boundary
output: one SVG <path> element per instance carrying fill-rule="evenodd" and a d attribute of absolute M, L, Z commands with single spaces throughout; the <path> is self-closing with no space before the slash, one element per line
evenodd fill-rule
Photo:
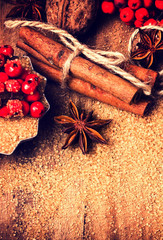
<path fill-rule="evenodd" d="M 7 108 L 10 116 L 23 116 L 22 103 L 20 100 L 8 100 Z"/>

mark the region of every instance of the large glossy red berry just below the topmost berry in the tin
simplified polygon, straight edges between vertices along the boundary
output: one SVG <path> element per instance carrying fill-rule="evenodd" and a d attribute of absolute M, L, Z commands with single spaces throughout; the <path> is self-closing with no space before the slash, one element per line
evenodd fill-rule
<path fill-rule="evenodd" d="M 5 72 L 9 77 L 19 77 L 22 73 L 22 65 L 18 59 L 8 60 L 5 65 Z"/>

